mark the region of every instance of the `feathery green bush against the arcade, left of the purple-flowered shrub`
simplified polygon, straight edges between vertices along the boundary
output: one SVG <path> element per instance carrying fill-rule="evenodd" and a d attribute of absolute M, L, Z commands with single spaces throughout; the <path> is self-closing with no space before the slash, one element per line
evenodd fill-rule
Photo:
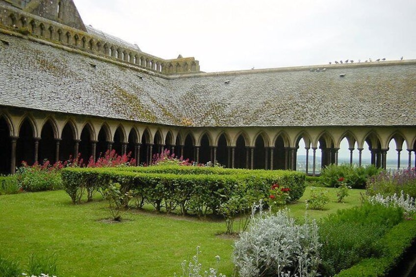
<path fill-rule="evenodd" d="M 336 187 L 338 179 L 343 177 L 347 186 L 364 189 L 367 179 L 371 176 L 378 175 L 381 171 L 382 169 L 374 165 L 358 167 L 350 164 L 331 164 L 322 170 L 320 178 L 322 183 L 327 187 Z"/>

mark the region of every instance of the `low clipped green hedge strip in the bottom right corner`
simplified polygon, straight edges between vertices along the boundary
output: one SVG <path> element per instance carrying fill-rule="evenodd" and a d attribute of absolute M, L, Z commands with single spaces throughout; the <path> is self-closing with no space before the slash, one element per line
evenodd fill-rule
<path fill-rule="evenodd" d="M 406 220 L 392 227 L 381 239 L 385 250 L 380 258 L 362 260 L 353 267 L 341 271 L 337 277 L 387 276 L 404 259 L 406 250 L 416 239 L 416 221 Z M 395 276 L 395 275 L 392 275 Z"/>

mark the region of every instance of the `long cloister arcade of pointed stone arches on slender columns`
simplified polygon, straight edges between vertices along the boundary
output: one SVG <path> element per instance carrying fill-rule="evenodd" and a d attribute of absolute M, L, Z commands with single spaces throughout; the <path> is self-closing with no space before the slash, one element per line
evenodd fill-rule
<path fill-rule="evenodd" d="M 154 154 L 168 149 L 196 163 L 218 161 L 229 168 L 268 170 L 298 169 L 298 152 L 303 152 L 302 171 L 315 175 L 320 167 L 338 164 L 338 151 L 345 142 L 350 163 L 355 152 L 361 165 L 362 152 L 369 151 L 370 163 L 386 168 L 387 152 L 394 146 L 398 167 L 404 166 L 402 151 L 407 151 L 406 166 L 415 166 L 416 131 L 406 126 L 180 127 L 0 111 L 1 174 L 14 173 L 22 161 L 53 163 L 80 153 L 87 162 L 112 149 L 130 153 L 138 164 L 149 164 Z"/>

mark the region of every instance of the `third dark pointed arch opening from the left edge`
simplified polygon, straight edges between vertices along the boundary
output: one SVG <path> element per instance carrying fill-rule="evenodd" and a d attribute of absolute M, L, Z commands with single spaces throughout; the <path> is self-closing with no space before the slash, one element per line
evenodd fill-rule
<path fill-rule="evenodd" d="M 43 163 L 45 160 L 49 160 L 53 164 L 56 162 L 56 141 L 50 121 L 47 121 L 42 127 L 40 137 L 38 161 Z"/>

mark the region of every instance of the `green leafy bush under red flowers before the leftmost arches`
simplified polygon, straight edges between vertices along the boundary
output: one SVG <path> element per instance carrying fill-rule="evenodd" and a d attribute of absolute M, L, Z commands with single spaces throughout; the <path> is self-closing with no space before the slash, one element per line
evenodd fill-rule
<path fill-rule="evenodd" d="M 29 192 L 62 188 L 60 173 L 41 166 L 22 166 L 17 170 L 16 178 L 19 186 Z"/>

